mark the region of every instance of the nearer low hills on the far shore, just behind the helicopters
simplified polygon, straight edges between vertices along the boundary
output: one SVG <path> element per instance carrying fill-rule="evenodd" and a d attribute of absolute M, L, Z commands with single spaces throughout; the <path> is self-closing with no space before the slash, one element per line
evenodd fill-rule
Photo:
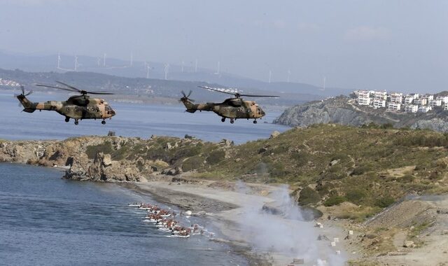
<path fill-rule="evenodd" d="M 33 90 L 57 91 L 32 86 L 35 83 L 55 84 L 55 80 L 69 83 L 84 90 L 106 90 L 118 95 L 110 99 L 130 99 L 141 102 L 175 102 L 181 97 L 181 90 L 193 90 L 192 98 L 200 102 L 222 102 L 226 94 L 210 92 L 197 86 L 225 87 L 216 83 L 183 80 L 162 80 L 153 78 L 125 78 L 93 72 L 26 72 L 21 70 L 0 69 L 0 78 L 14 80 Z M 30 87 L 28 89 L 30 89 Z M 1 87 L 0 87 L 1 88 Z M 8 87 L 5 87 L 6 89 Z M 245 89 L 253 94 L 276 94 L 273 91 Z M 320 99 L 318 95 L 301 93 L 283 93 L 279 98 L 258 98 L 260 104 L 270 106 L 293 106 L 297 102 Z"/>

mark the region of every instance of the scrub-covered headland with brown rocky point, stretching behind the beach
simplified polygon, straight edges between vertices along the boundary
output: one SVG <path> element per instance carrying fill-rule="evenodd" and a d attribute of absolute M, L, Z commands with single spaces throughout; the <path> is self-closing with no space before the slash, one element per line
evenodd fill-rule
<path fill-rule="evenodd" d="M 448 134 L 314 125 L 233 146 L 197 139 L 83 137 L 3 141 L 0 161 L 68 165 L 69 179 L 241 179 L 288 183 L 302 205 L 351 202 L 366 218 L 409 194 L 448 191 Z"/>

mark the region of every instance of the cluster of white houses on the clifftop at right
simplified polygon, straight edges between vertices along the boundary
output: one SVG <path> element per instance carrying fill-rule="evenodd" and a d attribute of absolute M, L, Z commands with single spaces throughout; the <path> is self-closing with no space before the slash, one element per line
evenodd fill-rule
<path fill-rule="evenodd" d="M 428 113 L 434 109 L 448 110 L 448 96 L 434 94 L 403 94 L 385 90 L 355 90 L 353 96 L 360 106 L 370 106 L 373 109 L 405 113 Z"/>

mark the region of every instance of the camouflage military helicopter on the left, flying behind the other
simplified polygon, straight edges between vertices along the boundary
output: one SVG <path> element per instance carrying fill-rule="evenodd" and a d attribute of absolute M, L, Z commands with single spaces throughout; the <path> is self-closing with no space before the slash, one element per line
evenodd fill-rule
<path fill-rule="evenodd" d="M 75 120 L 75 125 L 78 125 L 78 120 L 83 119 L 102 119 L 101 123 L 106 124 L 106 118 L 112 118 L 116 115 L 111 106 L 104 101 L 104 99 L 90 98 L 87 94 L 113 94 L 109 92 L 87 92 L 86 90 L 78 90 L 76 87 L 56 81 L 65 87 L 36 84 L 41 87 L 52 87 L 59 90 L 67 90 L 69 92 L 79 92 L 80 95 L 69 97 L 64 102 L 48 101 L 48 102 L 31 102 L 27 96 L 32 93 L 32 90 L 25 94 L 25 87 L 21 86 L 22 94 L 15 95 L 20 104 L 24 107 L 23 111 L 33 113 L 36 110 L 57 111 L 57 113 L 65 116 L 65 122 L 69 122 L 70 118 Z"/>

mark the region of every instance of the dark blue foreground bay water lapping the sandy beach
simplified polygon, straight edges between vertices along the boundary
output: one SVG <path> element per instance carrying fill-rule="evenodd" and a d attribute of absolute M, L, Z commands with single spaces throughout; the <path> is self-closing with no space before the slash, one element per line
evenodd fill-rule
<path fill-rule="evenodd" d="M 0 163 L 0 265 L 247 264 L 206 237 L 166 237 L 141 222 L 144 212 L 126 206 L 151 198 L 61 176 L 55 169 Z"/>

